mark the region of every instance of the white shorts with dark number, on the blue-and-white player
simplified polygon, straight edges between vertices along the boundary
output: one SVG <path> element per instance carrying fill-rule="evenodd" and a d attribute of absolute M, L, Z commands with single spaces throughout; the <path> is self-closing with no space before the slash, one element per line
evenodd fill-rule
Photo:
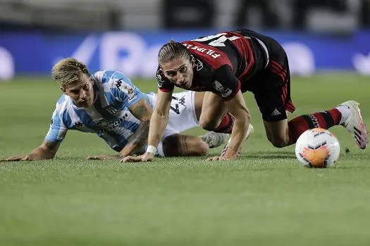
<path fill-rule="evenodd" d="M 156 93 L 152 92 L 147 94 L 147 96 L 154 108 L 156 103 Z M 162 141 L 164 141 L 168 136 L 179 134 L 181 131 L 199 126 L 199 120 L 195 113 L 194 97 L 195 91 L 173 93 L 168 124 L 164 131 Z M 158 145 L 158 154 L 163 157 L 164 151 L 162 141 Z"/>

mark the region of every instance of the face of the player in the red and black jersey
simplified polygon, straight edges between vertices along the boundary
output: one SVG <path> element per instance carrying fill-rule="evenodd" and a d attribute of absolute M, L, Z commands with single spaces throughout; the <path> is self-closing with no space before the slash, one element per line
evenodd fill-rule
<path fill-rule="evenodd" d="M 192 86 L 194 77 L 194 58 L 192 60 L 185 58 L 175 58 L 167 63 L 161 64 L 164 75 L 176 86 L 189 89 Z"/>

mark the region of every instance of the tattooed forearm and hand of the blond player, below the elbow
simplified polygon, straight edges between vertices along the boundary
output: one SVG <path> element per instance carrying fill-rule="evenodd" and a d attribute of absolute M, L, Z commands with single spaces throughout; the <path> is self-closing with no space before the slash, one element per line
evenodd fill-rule
<path fill-rule="evenodd" d="M 131 155 L 135 150 L 139 150 L 144 145 L 147 144 L 149 135 L 149 121 L 140 122 L 139 127 L 137 127 L 135 134 L 130 137 L 128 144 L 121 150 L 121 155 L 123 157 Z"/>

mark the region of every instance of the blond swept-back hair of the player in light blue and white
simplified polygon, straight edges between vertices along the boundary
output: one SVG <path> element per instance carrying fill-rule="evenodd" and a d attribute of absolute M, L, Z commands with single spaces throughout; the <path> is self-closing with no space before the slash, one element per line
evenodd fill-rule
<path fill-rule="evenodd" d="M 66 88 L 78 82 L 82 73 L 90 75 L 84 63 L 81 63 L 75 58 L 64 58 L 54 65 L 51 70 L 51 77 L 63 88 Z"/>

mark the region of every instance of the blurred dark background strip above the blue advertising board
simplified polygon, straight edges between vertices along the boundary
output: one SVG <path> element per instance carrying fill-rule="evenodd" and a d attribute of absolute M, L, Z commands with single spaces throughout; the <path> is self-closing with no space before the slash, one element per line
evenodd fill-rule
<path fill-rule="evenodd" d="M 369 10 L 369 0 L 1 0 L 0 25 L 3 30 L 350 32 L 370 27 Z"/>

